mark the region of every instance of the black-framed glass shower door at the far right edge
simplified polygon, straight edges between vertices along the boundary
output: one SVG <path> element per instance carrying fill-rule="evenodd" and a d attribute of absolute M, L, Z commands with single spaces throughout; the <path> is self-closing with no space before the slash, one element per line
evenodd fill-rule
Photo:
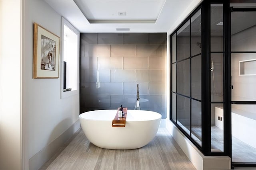
<path fill-rule="evenodd" d="M 256 6 L 230 12 L 232 164 L 256 164 Z"/>

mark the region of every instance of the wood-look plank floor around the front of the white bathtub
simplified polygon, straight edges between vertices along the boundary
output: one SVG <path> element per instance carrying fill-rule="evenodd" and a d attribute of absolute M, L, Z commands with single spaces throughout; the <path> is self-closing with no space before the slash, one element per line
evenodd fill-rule
<path fill-rule="evenodd" d="M 80 129 L 40 170 L 196 170 L 165 128 L 145 147 L 109 150 L 96 147 Z"/>

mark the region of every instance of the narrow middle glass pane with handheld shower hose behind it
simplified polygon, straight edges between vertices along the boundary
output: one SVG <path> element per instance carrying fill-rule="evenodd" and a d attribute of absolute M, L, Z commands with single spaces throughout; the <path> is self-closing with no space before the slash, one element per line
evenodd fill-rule
<path fill-rule="evenodd" d="M 223 102 L 223 54 L 211 54 L 211 101 Z"/>

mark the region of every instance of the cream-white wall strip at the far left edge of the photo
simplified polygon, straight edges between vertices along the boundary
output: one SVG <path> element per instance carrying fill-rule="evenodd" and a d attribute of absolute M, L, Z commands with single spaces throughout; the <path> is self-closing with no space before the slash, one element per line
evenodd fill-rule
<path fill-rule="evenodd" d="M 21 0 L 0 0 L 0 169 L 21 169 Z"/>

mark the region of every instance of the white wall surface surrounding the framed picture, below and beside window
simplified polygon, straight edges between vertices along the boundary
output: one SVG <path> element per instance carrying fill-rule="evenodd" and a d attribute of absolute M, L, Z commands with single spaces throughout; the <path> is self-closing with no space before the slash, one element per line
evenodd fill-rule
<path fill-rule="evenodd" d="M 30 164 L 37 165 L 39 153 L 46 150 L 47 154 L 47 147 L 78 121 L 79 95 L 60 99 L 60 78 L 32 78 L 33 22 L 60 37 L 61 16 L 43 0 L 23 1 L 22 123 L 26 131 L 24 148 L 27 149 L 24 156 Z M 37 159 L 33 159 L 34 156 Z M 30 166 L 33 167 L 36 166 Z"/>

